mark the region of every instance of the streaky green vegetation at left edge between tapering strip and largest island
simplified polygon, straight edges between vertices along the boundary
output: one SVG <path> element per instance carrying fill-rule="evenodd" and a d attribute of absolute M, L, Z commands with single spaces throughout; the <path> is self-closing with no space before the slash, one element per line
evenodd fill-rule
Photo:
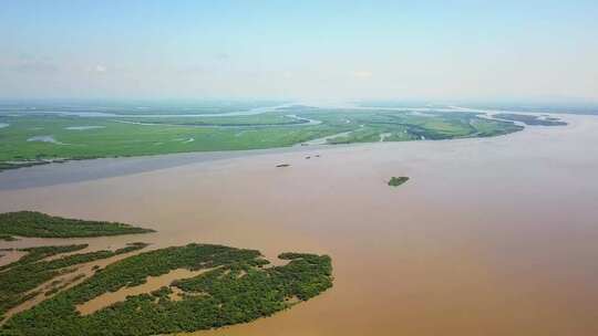
<path fill-rule="evenodd" d="M 95 251 L 64 255 L 59 259 L 44 260 L 61 253 L 85 249 L 86 244 L 65 246 L 40 246 L 22 249 L 29 254 L 0 269 L 0 318 L 12 307 L 37 296 L 34 291 L 52 279 L 75 271 L 74 265 L 128 253 L 145 248 L 145 243 L 133 243 L 116 251 Z"/>

